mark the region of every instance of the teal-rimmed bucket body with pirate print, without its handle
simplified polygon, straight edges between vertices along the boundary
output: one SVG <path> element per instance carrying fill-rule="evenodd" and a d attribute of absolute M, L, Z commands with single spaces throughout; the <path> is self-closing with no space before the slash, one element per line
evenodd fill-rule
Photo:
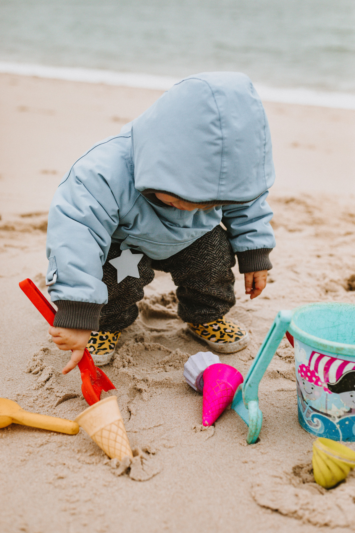
<path fill-rule="evenodd" d="M 355 305 L 303 305 L 288 330 L 301 426 L 317 437 L 355 441 Z"/>

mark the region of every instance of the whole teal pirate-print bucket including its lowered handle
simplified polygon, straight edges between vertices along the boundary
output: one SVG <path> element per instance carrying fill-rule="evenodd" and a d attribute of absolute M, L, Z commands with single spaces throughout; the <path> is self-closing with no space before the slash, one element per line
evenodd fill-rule
<path fill-rule="evenodd" d="M 355 441 L 355 305 L 321 302 L 280 311 L 238 388 L 232 408 L 257 440 L 258 386 L 286 330 L 294 343 L 298 418 L 317 437 Z"/>

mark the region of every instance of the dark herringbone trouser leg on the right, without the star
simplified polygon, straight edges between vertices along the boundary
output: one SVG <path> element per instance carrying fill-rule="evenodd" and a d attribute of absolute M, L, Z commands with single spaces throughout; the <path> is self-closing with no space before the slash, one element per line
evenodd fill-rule
<path fill-rule="evenodd" d="M 171 272 L 178 315 L 194 324 L 217 320 L 235 304 L 234 265 L 227 232 L 219 225 L 168 259 L 151 262 L 154 270 Z"/>

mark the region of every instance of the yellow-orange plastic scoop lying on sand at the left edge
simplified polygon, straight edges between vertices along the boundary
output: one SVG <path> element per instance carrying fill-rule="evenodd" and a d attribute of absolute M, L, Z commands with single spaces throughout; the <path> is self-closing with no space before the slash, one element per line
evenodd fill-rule
<path fill-rule="evenodd" d="M 0 428 L 12 423 L 40 427 L 43 430 L 59 431 L 60 433 L 68 433 L 68 435 L 76 435 L 79 432 L 79 426 L 76 422 L 55 416 L 29 413 L 15 401 L 0 398 Z"/>

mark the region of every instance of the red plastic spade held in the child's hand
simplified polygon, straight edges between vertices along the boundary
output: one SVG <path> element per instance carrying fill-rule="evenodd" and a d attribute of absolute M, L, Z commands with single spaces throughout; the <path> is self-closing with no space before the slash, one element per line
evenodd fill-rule
<path fill-rule="evenodd" d="M 43 294 L 38 290 L 33 281 L 29 278 L 20 281 L 20 288 L 24 294 L 31 300 L 32 304 L 38 309 L 40 314 L 47 320 L 49 326 L 53 326 L 54 315 L 56 313 L 52 305 L 46 300 Z M 81 391 L 89 405 L 100 401 L 102 391 L 110 391 L 116 387 L 110 379 L 102 372 L 101 368 L 94 365 L 93 358 L 85 348 L 84 356 L 78 362 L 81 374 Z"/>

